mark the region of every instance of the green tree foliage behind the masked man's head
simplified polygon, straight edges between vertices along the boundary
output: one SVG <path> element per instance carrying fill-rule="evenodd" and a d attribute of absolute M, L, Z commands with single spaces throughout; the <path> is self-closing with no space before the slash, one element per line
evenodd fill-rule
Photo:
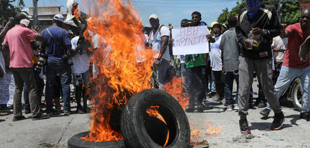
<path fill-rule="evenodd" d="M 278 0 L 281 3 L 280 14 L 281 14 L 281 22 L 292 24 L 296 23 L 300 17 L 300 2 L 293 0 Z M 262 3 L 267 4 L 269 6 L 278 5 L 278 1 L 274 0 L 262 0 Z M 247 3 L 245 0 L 242 0 L 240 3 L 237 2 L 237 6 L 228 11 L 228 8 L 224 9 L 222 14 L 218 17 L 218 23 L 227 23 L 227 19 L 230 16 L 238 16 L 240 10 L 242 8 L 247 7 Z"/>

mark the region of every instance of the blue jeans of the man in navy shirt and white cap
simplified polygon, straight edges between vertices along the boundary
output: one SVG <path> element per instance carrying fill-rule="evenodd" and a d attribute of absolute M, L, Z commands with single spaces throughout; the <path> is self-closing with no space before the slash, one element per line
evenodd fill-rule
<path fill-rule="evenodd" d="M 70 110 L 70 66 L 62 60 L 48 59 L 46 63 L 46 87 L 45 99 L 46 110 L 52 110 L 52 94 L 56 74 L 61 78 L 61 88 L 63 96 L 63 109 Z"/>

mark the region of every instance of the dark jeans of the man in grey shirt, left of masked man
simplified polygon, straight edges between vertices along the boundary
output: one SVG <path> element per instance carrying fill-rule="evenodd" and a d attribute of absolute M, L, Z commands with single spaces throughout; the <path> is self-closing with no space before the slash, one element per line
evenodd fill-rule
<path fill-rule="evenodd" d="M 232 97 L 232 90 L 234 79 L 237 83 L 237 94 L 236 94 L 236 101 L 235 104 L 238 104 L 238 87 L 239 87 L 239 72 L 236 70 L 235 72 L 224 72 L 225 76 L 225 97 L 226 97 L 226 104 L 232 105 L 234 103 L 234 98 Z"/>

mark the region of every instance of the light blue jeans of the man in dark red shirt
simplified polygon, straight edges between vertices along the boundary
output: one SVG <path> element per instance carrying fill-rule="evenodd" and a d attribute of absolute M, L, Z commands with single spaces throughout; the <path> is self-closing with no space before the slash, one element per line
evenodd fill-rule
<path fill-rule="evenodd" d="M 310 67 L 304 68 L 291 68 L 285 65 L 282 65 L 280 75 L 278 77 L 277 83 L 274 86 L 274 90 L 276 92 L 276 96 L 279 99 L 281 94 L 285 91 L 285 88 L 291 84 L 295 78 L 300 78 L 300 83 L 302 86 L 302 109 L 300 112 L 309 112 L 310 103 L 309 103 L 309 78 L 310 78 Z M 270 109 L 269 104 L 266 109 Z"/>

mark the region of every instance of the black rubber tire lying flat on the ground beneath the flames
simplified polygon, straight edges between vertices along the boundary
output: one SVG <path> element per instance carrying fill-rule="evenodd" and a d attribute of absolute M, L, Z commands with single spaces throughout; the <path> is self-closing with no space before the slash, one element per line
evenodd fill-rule
<path fill-rule="evenodd" d="M 81 137 L 86 136 L 89 134 L 90 131 L 85 131 L 80 134 L 76 134 L 72 136 L 68 140 L 68 147 L 69 148 L 90 148 L 90 147 L 105 147 L 105 148 L 125 148 L 124 140 L 118 141 L 110 141 L 110 142 L 91 142 L 85 141 L 81 139 Z"/>

